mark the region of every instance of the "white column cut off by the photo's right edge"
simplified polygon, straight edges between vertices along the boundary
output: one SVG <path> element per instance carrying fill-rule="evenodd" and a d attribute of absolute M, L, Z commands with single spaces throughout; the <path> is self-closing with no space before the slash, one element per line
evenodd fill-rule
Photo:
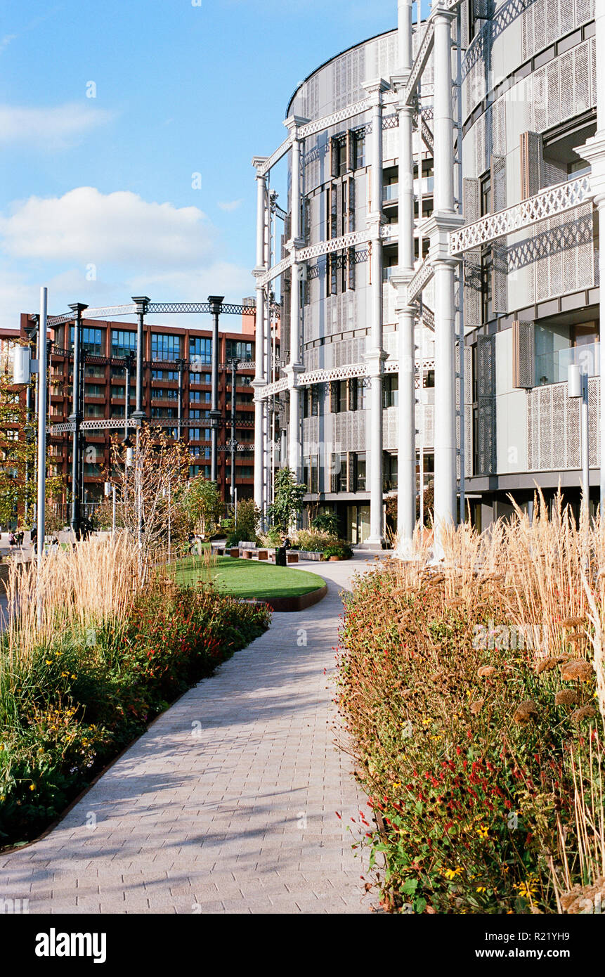
<path fill-rule="evenodd" d="M 599 220 L 599 319 L 600 319 L 600 503 L 601 514 L 605 510 L 605 3 L 595 6 L 595 44 L 596 44 L 596 133 L 576 152 L 580 153 L 591 166 L 590 187 L 594 191 L 594 205 Z"/>

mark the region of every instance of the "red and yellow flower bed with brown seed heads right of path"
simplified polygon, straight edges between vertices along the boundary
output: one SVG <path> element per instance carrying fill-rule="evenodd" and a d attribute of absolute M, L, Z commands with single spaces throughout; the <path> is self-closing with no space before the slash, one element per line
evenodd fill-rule
<path fill-rule="evenodd" d="M 392 567 L 347 601 L 339 701 L 374 815 L 360 843 L 391 911 L 557 913 L 574 883 L 597 881 L 605 761 L 588 618 L 567 617 L 561 597 L 558 647 L 541 632 L 528 647 L 498 576 L 405 585 Z"/>

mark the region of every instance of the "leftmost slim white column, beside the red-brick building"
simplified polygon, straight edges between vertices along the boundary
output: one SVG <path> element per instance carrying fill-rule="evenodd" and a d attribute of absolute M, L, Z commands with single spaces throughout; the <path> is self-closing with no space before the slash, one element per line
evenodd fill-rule
<path fill-rule="evenodd" d="M 252 166 L 256 168 L 256 267 L 254 276 L 256 277 L 256 329 L 255 329 L 255 372 L 252 381 L 254 396 L 262 393 L 266 385 L 265 359 L 264 359 L 264 323 L 265 323 L 265 290 L 259 285 L 258 278 L 267 269 L 265 268 L 265 210 L 267 206 L 267 178 L 262 173 L 262 166 L 266 162 L 266 156 L 255 156 Z M 254 402 L 254 504 L 264 510 L 263 492 L 263 459 L 265 453 L 264 446 L 264 426 L 263 426 L 263 402 Z"/>

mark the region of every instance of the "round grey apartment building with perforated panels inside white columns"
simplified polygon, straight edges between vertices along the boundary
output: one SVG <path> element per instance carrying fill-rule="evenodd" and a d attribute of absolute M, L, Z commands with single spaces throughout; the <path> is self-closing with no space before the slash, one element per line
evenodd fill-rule
<path fill-rule="evenodd" d="M 395 5 L 394 5 L 395 8 Z M 587 373 L 590 497 L 600 486 L 598 211 L 605 206 L 605 3 L 443 0 L 336 55 L 296 89 L 286 138 L 255 157 L 257 335 L 281 276 L 275 382 L 287 463 L 341 531 L 402 544 L 420 484 L 440 521 L 485 527 L 538 484 L 580 500 Z M 395 9 L 394 9 L 395 15 Z M 288 168 L 271 254 L 271 178 Z M 602 259 L 601 259 L 602 260 Z"/>

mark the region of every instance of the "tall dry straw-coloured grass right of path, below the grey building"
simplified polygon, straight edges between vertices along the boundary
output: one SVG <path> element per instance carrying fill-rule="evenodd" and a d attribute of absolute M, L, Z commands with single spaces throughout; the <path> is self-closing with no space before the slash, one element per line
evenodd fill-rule
<path fill-rule="evenodd" d="M 605 521 L 598 513 L 589 519 L 585 506 L 577 521 L 560 492 L 548 506 L 538 489 L 532 519 L 511 503 L 511 517 L 483 532 L 470 523 L 442 527 L 444 559 L 437 566 L 426 533 L 416 528 L 411 560 L 389 569 L 403 590 L 438 580 L 445 600 L 468 611 L 487 591 L 520 633 L 540 630 L 536 658 L 587 659 L 605 722 Z"/>

